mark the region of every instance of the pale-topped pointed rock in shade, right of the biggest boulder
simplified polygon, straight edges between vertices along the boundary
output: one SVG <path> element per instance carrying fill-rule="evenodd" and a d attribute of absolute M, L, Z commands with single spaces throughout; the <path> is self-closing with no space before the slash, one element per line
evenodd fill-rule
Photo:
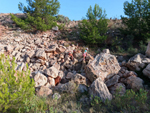
<path fill-rule="evenodd" d="M 146 57 L 142 55 L 141 53 L 133 56 L 132 58 L 129 59 L 127 62 L 126 66 L 132 70 L 132 71 L 140 71 L 142 68 L 144 68 L 145 64 L 143 63 L 143 60 Z"/>

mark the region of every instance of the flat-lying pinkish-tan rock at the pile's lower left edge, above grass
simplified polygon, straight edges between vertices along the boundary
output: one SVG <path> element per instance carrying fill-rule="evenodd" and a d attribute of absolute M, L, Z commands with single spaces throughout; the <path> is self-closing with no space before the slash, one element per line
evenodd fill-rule
<path fill-rule="evenodd" d="M 53 94 L 53 91 L 46 86 L 42 86 L 40 90 L 36 93 L 38 96 L 49 96 Z"/>

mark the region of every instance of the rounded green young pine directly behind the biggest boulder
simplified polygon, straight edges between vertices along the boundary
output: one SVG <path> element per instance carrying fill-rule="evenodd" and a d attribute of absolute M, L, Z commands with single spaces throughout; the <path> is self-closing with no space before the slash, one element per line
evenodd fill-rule
<path fill-rule="evenodd" d="M 107 36 L 107 19 L 105 11 L 95 4 L 94 9 L 92 7 L 88 9 L 87 19 L 83 19 L 79 23 L 80 37 L 87 44 L 101 44 Z"/>

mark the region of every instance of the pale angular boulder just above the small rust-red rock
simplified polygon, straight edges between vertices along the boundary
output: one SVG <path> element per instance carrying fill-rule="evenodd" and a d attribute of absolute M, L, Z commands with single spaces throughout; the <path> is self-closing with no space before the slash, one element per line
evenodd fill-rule
<path fill-rule="evenodd" d="M 56 78 L 58 76 L 58 70 L 55 67 L 45 69 L 44 73 L 52 78 Z"/>

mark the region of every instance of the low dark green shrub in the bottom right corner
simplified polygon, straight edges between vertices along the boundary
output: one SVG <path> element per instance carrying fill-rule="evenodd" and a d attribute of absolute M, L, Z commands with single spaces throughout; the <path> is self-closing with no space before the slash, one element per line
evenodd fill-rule
<path fill-rule="evenodd" d="M 127 110 L 128 112 L 140 112 L 147 106 L 147 91 L 140 89 L 139 92 L 133 90 L 127 90 L 126 93 L 121 96 L 116 93 L 115 98 L 112 100 L 114 110 L 122 111 Z"/>

